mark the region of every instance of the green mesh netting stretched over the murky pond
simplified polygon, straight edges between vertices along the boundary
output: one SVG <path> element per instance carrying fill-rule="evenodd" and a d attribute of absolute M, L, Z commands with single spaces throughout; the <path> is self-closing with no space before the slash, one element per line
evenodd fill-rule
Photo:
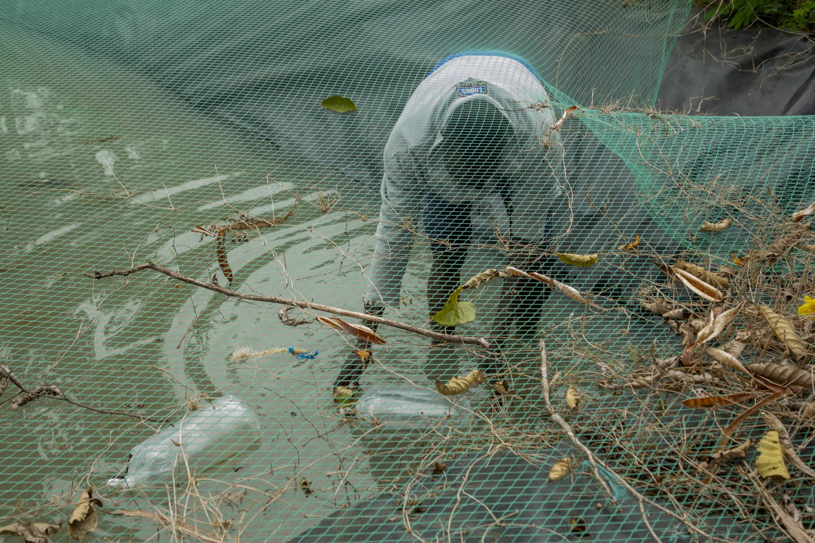
<path fill-rule="evenodd" d="M 7 384 L 0 398 L 2 523 L 64 523 L 77 489 L 92 486 L 106 508 L 90 537 L 147 540 L 156 527 L 163 535 L 182 521 L 222 541 L 238 534 L 262 541 L 297 534 L 302 541 L 646 539 L 643 523 L 632 528 L 641 516 L 631 497 L 619 508 L 596 507 L 608 497 L 550 422 L 540 392 L 544 338 L 554 405 L 612 469 L 705 532 L 731 541 L 760 541 L 762 531 L 783 537 L 747 466 L 722 467 L 712 483 L 695 469 L 750 401 L 713 411 L 679 403 L 753 385 L 716 374 L 653 390 L 620 386 L 652 374 L 654 358 L 682 351 L 681 338 L 641 302 L 676 300 L 700 316 L 711 308 L 668 281 L 654 260 L 681 254 L 708 269 L 732 265 L 725 303 L 764 301 L 795 320 L 801 335 L 813 332 L 794 317 L 811 283 L 787 284 L 810 277 L 811 252 L 792 248 L 757 271 L 733 261 L 796 231 L 791 212 L 813 200 L 813 121 L 651 109 L 687 12 L 674 2 L 591 10 L 568 2 L 540 9 L 517 2 L 3 7 L 0 269 L 7 289 L 0 360 L 27 388 L 55 384 L 75 404 L 41 398 L 12 409 L 16 390 Z M 505 310 L 502 279 L 461 295 L 477 317 L 456 333 L 500 346 L 510 389 L 503 404 L 483 383 L 450 397 L 456 416 L 410 424 L 398 413 L 350 417 L 353 404 L 338 406 L 332 397 L 356 347 L 349 335 L 316 322 L 283 326 L 277 304 L 220 296 L 151 270 L 83 275 L 154 261 L 243 293 L 361 310 L 375 256 L 382 149 L 413 90 L 440 59 L 461 51 L 511 54 L 531 65 L 548 100 L 526 95 L 521 108 L 548 106 L 543 111 L 555 120 L 581 106 L 564 121 L 559 144 L 531 150 L 550 157 L 546 175 L 554 172 L 563 187 L 551 214 L 570 217 L 556 221 L 541 254 L 548 261 L 556 251 L 600 256 L 589 268 L 550 269 L 603 310 L 551 291 L 543 309 L 511 315 L 540 313 L 537 335 L 522 337 L 496 322 Z M 332 94 L 354 99 L 359 111 L 319 107 Z M 539 186 L 540 172 L 515 182 Z M 191 231 L 274 221 L 291 209 L 293 217 L 273 226 L 227 228 L 226 260 L 218 239 Z M 728 230 L 698 231 L 703 221 L 725 217 L 733 219 Z M 399 306 L 385 317 L 429 328 L 433 253 L 422 218 L 407 224 L 412 252 Z M 637 235 L 637 247 L 620 248 Z M 501 243 L 469 247 L 456 284 L 505 265 Z M 786 296 L 786 287 L 798 290 Z M 754 313 L 742 315 L 740 327 L 760 328 Z M 355 398 L 377 393 L 387 402 L 394 401 L 388 394 L 405 392 L 443 402 L 432 396 L 432 379 L 466 374 L 492 352 L 430 346 L 389 326 L 377 331 L 388 343 L 374 346 Z M 289 347 L 319 354 L 235 356 L 239 348 Z M 748 350 L 742 361 L 759 357 L 783 359 L 770 348 Z M 574 412 L 565 399 L 571 386 L 581 397 Z M 105 486 L 125 470 L 134 445 L 225 395 L 258 415 L 251 443 L 227 429 L 205 456 L 190 451 L 192 482 L 182 456 L 178 486 L 173 479 L 134 490 Z M 808 461 L 810 428 L 800 418 L 784 421 Z M 737 441 L 764 431 L 754 416 Z M 547 484 L 549 468 L 564 456 L 573 458 L 574 474 Z M 447 469 L 434 474 L 436 462 Z M 470 472 L 478 476 L 462 482 Z M 812 528 L 804 508 L 811 486 L 800 473 L 768 488 Z M 153 516 L 134 522 L 109 515 L 113 509 Z M 690 537 L 675 519 L 648 511 L 663 541 Z M 319 524 L 329 515 L 332 522 Z"/>

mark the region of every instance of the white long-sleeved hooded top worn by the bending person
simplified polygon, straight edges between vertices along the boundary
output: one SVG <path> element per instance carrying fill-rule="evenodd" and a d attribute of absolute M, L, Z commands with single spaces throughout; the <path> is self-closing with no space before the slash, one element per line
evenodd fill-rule
<path fill-rule="evenodd" d="M 434 150 L 452 112 L 470 100 L 486 100 L 514 129 L 512 145 L 482 189 L 451 177 Z M 403 274 L 428 199 L 473 204 L 474 225 L 501 237 L 542 241 L 548 210 L 562 190 L 562 149 L 548 94 L 516 59 L 464 55 L 443 63 L 411 95 L 385 146 L 377 246 L 369 270 L 367 304 L 399 305 Z M 558 165 L 560 164 L 560 165 Z M 504 189 L 504 195 L 500 191 Z M 509 198 L 507 197 L 509 194 Z M 443 217 L 440 217 L 443 218 Z"/>

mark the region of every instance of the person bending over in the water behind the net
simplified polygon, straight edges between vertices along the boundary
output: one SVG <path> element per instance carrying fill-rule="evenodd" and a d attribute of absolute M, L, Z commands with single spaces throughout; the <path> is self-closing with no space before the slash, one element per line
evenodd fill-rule
<path fill-rule="evenodd" d="M 419 222 L 433 252 L 430 315 L 460 284 L 468 248 L 476 244 L 501 247 L 510 265 L 548 273 L 552 261 L 542 254 L 551 245 L 549 209 L 562 195 L 553 122 L 548 95 L 525 63 L 500 55 L 439 63 L 407 101 L 385 145 L 366 313 L 399 307 Z M 537 281 L 504 279 L 496 336 L 505 338 L 513 324 L 534 333 L 546 292 Z M 455 327 L 434 322 L 432 329 L 453 333 Z M 500 370 L 499 353 L 500 345 L 482 364 L 491 379 Z M 361 373 L 359 357 L 351 355 L 335 387 L 355 388 Z"/>

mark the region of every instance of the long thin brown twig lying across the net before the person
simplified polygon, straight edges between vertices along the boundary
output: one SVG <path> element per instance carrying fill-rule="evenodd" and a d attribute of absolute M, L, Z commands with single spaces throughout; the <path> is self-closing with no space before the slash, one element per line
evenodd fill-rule
<path fill-rule="evenodd" d="M 93 274 L 88 274 L 86 272 L 85 275 L 86 277 L 90 277 L 93 279 L 107 278 L 112 277 L 114 275 L 121 275 L 123 277 L 127 277 L 128 275 L 138 273 L 143 269 L 152 269 L 160 274 L 165 274 L 167 277 L 174 278 L 178 281 L 187 282 L 191 285 L 205 288 L 209 291 L 220 292 L 221 294 L 231 296 L 232 298 L 238 298 L 240 300 L 253 300 L 258 302 L 271 302 L 272 304 L 293 305 L 294 307 L 297 307 L 299 309 L 312 309 L 315 311 L 324 311 L 325 313 L 334 313 L 336 315 L 342 315 L 344 317 L 359 318 L 360 320 L 363 321 L 377 322 L 377 324 L 392 326 L 394 328 L 399 328 L 400 330 L 412 332 L 413 334 L 424 335 L 425 337 L 429 337 L 431 339 L 438 339 L 439 341 L 478 345 L 483 348 L 490 348 L 490 344 L 487 341 L 487 339 L 483 338 L 475 338 L 466 335 L 440 334 L 438 332 L 425 330 L 424 328 L 412 326 L 404 322 L 392 321 L 389 318 L 377 317 L 376 315 L 368 315 L 366 313 L 358 313 L 356 311 L 349 311 L 348 309 L 335 308 L 330 305 L 313 304 L 311 302 L 306 301 L 289 300 L 288 298 L 282 298 L 280 296 L 260 296 L 257 294 L 244 294 L 242 292 L 233 291 L 230 288 L 221 287 L 220 285 L 212 282 L 198 281 L 197 279 L 187 277 L 186 275 L 178 274 L 171 269 L 167 269 L 164 266 L 154 264 L 153 262 L 148 262 L 147 264 L 140 264 L 129 269 L 114 269 L 110 272 L 94 271 Z"/>

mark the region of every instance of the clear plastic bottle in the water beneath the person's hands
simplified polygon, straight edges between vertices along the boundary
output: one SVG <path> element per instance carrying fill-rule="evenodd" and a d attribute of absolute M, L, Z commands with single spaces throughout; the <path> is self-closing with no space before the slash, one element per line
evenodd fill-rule
<path fill-rule="evenodd" d="M 356 414 L 360 420 L 387 427 L 428 427 L 466 418 L 467 406 L 463 397 L 451 402 L 435 391 L 391 388 L 363 392 L 356 404 Z"/>

